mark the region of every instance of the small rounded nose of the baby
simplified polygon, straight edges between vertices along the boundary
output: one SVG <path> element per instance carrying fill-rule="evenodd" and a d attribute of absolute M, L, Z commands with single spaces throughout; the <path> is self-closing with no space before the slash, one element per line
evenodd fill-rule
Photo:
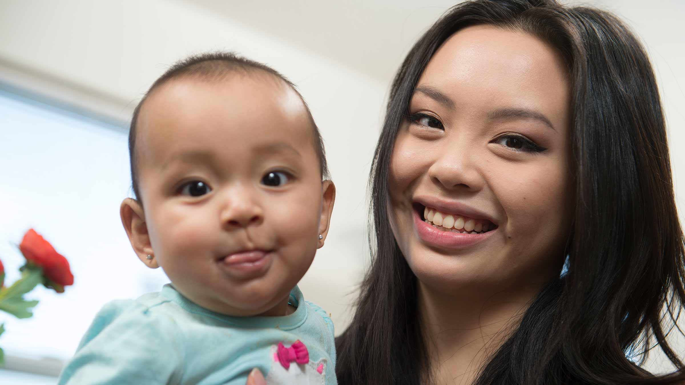
<path fill-rule="evenodd" d="M 227 192 L 221 210 L 225 227 L 248 227 L 264 221 L 264 209 L 255 192 L 246 188 L 232 188 Z"/>

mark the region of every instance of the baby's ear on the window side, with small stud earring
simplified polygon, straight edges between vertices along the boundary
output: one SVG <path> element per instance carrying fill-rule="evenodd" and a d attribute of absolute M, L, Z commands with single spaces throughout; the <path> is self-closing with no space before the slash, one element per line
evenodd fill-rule
<path fill-rule="evenodd" d="M 145 212 L 142 211 L 140 203 L 135 199 L 124 199 L 121 202 L 119 214 L 121 214 L 121 223 L 126 229 L 126 234 L 138 258 L 149 268 L 157 269 L 160 265 L 157 263 L 150 244 L 150 236 L 147 233 L 147 224 L 145 223 Z"/>

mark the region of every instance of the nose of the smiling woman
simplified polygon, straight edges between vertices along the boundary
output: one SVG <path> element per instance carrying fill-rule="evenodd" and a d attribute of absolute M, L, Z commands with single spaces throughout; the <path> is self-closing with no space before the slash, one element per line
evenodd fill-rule
<path fill-rule="evenodd" d="M 478 171 L 477 154 L 473 146 L 462 142 L 436 151 L 436 158 L 428 169 L 432 182 L 447 190 L 479 190 L 483 178 Z"/>

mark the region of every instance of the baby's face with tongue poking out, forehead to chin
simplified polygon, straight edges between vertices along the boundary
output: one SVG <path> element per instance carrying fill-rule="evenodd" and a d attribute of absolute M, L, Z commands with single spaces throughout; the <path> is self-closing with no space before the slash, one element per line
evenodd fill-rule
<path fill-rule="evenodd" d="M 138 130 L 155 262 L 200 306 L 283 315 L 328 222 L 297 94 L 270 75 L 175 79 L 147 99 Z"/>

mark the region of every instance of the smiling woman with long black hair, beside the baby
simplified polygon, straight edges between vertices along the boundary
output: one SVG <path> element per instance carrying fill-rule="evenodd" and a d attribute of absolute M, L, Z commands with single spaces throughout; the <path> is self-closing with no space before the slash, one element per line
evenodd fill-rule
<path fill-rule="evenodd" d="M 671 180 L 651 64 L 621 21 L 553 0 L 452 8 L 390 91 L 338 381 L 682 382 Z M 655 343 L 675 373 L 640 367 Z"/>

